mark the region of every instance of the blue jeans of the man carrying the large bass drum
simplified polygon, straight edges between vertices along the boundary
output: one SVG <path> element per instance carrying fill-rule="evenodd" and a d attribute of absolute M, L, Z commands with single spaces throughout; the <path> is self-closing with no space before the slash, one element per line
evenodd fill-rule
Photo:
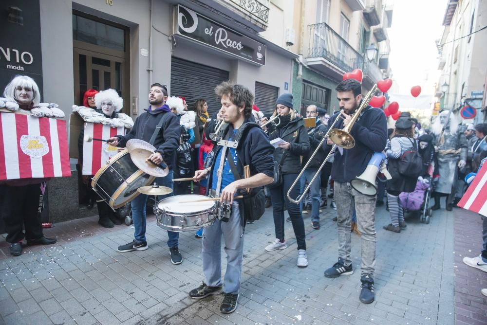
<path fill-rule="evenodd" d="M 159 177 L 155 179 L 155 182 L 159 186 L 166 186 L 173 188 L 173 181 L 172 181 L 172 170 L 169 171 L 169 174 L 165 177 Z M 172 193 L 167 195 L 162 195 L 157 197 L 156 201 L 158 202 L 161 199 L 167 198 L 172 196 Z M 148 199 L 148 195 L 139 194 L 135 199 L 131 202 L 132 207 L 132 221 L 134 227 L 134 238 L 137 241 L 147 241 L 146 238 L 146 226 L 147 226 L 147 216 L 146 216 L 146 203 Z M 156 203 L 157 204 L 157 203 Z M 169 248 L 178 246 L 179 240 L 179 233 L 168 231 L 168 246 Z"/>

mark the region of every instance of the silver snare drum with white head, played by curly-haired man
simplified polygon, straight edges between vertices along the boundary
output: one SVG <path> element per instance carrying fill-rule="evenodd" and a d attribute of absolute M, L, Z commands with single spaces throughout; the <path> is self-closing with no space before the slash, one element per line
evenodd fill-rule
<path fill-rule="evenodd" d="M 157 204 L 157 225 L 174 232 L 196 231 L 213 224 L 218 213 L 216 201 L 181 201 L 208 199 L 203 195 L 176 195 L 162 199 Z"/>

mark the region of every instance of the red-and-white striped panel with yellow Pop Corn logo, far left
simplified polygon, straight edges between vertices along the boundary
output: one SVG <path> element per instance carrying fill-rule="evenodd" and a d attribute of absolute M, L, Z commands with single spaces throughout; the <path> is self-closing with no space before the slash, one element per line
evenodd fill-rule
<path fill-rule="evenodd" d="M 0 112 L 0 180 L 71 176 L 66 121 Z"/>

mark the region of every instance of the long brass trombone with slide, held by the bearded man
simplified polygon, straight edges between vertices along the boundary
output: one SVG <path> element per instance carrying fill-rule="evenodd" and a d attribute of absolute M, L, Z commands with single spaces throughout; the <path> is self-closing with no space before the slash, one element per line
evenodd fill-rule
<path fill-rule="evenodd" d="M 367 95 L 365 95 L 365 97 L 362 100 L 362 103 L 360 103 L 360 106 L 355 111 L 354 116 L 352 117 L 352 120 L 350 121 L 350 123 L 347 126 L 345 126 L 343 129 L 333 128 L 333 126 L 335 126 L 335 123 L 337 123 L 337 121 L 340 118 L 344 119 L 342 116 L 343 109 L 340 111 L 340 113 L 338 114 L 335 121 L 333 121 L 333 124 L 330 126 L 328 131 L 323 136 L 323 139 L 319 142 L 318 146 L 316 147 L 315 151 L 313 152 L 313 154 L 309 158 L 308 162 L 306 162 L 306 164 L 304 165 L 300 174 L 298 175 L 296 180 L 293 182 L 293 184 L 291 185 L 291 187 L 287 191 L 287 198 L 289 199 L 289 201 L 291 201 L 293 203 L 300 203 L 302 201 L 302 199 L 306 196 L 306 193 L 308 193 L 309 189 L 311 188 L 311 184 L 316 180 L 316 178 L 319 175 L 319 172 L 321 171 L 321 169 L 323 169 L 326 161 L 328 160 L 328 158 L 330 158 L 331 154 L 335 151 L 337 146 L 340 146 L 340 147 L 345 148 L 345 149 L 350 149 L 350 148 L 353 148 L 355 146 L 355 139 L 350 134 L 350 130 L 352 129 L 352 126 L 354 125 L 354 123 L 358 119 L 358 116 L 360 115 L 360 113 L 367 107 L 367 105 L 369 105 L 369 102 L 372 99 L 372 96 L 374 96 L 376 90 L 377 90 L 377 85 L 374 85 L 372 87 L 372 89 L 367 93 Z M 294 188 L 294 186 L 296 186 L 298 181 L 301 179 L 302 174 L 304 173 L 306 168 L 308 168 L 308 165 L 310 164 L 311 160 L 318 153 L 319 148 L 326 141 L 326 139 L 328 138 L 328 135 L 330 137 L 330 140 L 334 143 L 332 149 L 330 150 L 330 152 L 328 153 L 326 158 L 323 160 L 323 162 L 319 166 L 318 171 L 313 176 L 311 181 L 308 183 L 308 187 L 306 187 L 304 192 L 302 194 L 300 194 L 296 199 L 291 198 L 292 189 Z"/>

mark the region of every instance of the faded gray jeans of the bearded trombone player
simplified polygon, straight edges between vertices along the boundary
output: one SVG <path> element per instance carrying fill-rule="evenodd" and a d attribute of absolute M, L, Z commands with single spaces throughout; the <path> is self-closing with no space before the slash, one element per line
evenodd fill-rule
<path fill-rule="evenodd" d="M 350 250 L 352 238 L 350 221 L 354 213 L 357 214 L 358 230 L 362 233 L 362 270 L 361 275 L 370 274 L 374 277 L 375 271 L 375 200 L 377 196 L 367 196 L 357 192 L 350 183 L 335 181 L 335 203 L 337 204 L 338 227 L 338 256 L 348 266 L 352 264 Z"/>

